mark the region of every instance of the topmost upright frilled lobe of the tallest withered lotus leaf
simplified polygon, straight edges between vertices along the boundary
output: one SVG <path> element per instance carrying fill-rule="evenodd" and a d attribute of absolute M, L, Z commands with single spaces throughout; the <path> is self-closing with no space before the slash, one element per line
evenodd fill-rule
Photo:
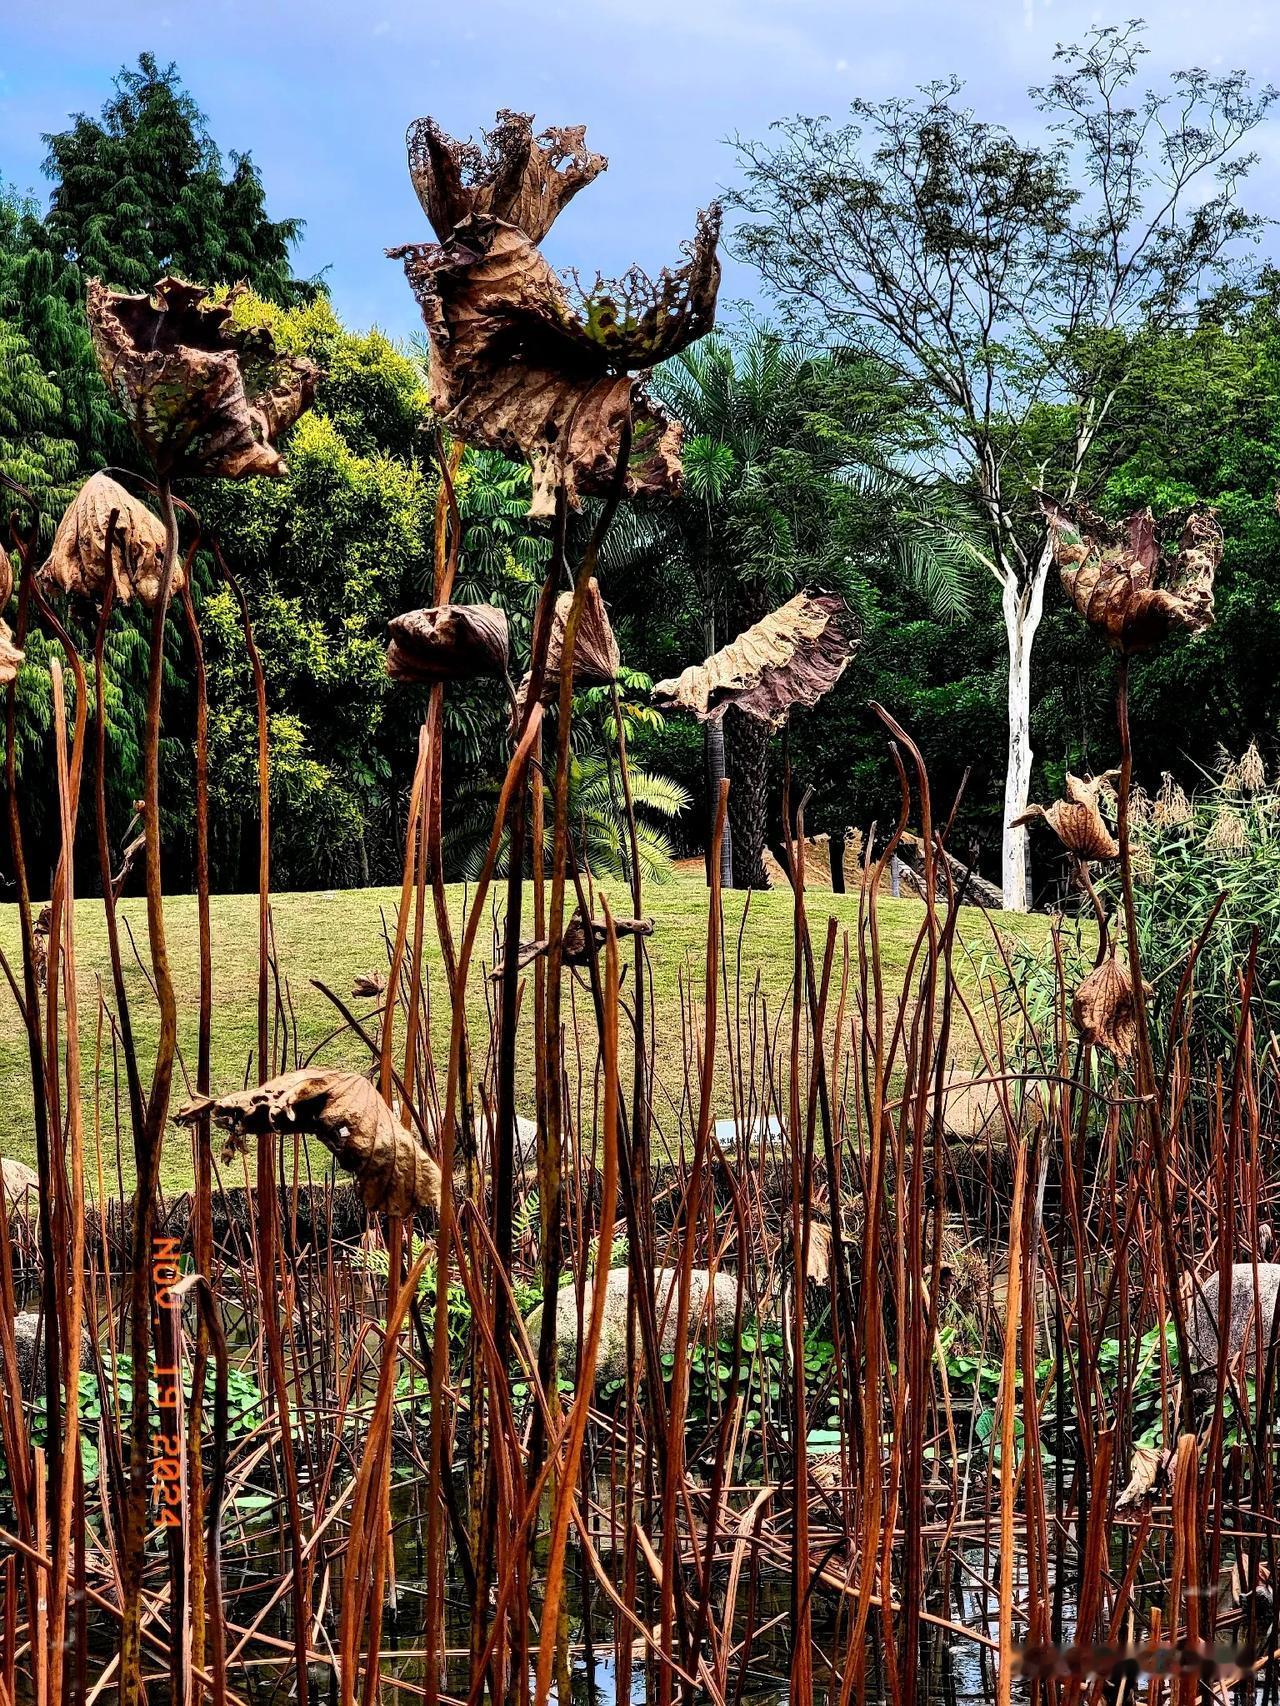
<path fill-rule="evenodd" d="M 505 220 L 541 242 L 556 215 L 608 167 L 585 145 L 585 125 L 534 136 L 526 113 L 498 113 L 485 145 L 445 136 L 432 118 L 408 130 L 410 177 L 440 242 L 473 213 Z"/>

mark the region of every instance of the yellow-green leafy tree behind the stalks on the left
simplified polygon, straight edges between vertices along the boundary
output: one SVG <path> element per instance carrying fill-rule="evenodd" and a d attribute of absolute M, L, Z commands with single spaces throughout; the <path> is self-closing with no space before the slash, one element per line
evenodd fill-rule
<path fill-rule="evenodd" d="M 381 333 L 346 331 L 324 297 L 280 309 L 241 297 L 237 317 L 324 368 L 287 442 L 285 479 L 193 493 L 249 601 L 270 694 L 273 843 L 282 882 L 369 882 L 391 870 L 401 783 L 422 705 L 386 674 L 386 623 L 430 570 L 435 474 L 422 370 Z M 357 447 L 353 447 L 353 442 Z M 415 450 L 416 447 L 416 450 Z M 210 590 L 210 778 L 215 853 L 230 880 L 253 822 L 254 694 L 234 601 Z"/>

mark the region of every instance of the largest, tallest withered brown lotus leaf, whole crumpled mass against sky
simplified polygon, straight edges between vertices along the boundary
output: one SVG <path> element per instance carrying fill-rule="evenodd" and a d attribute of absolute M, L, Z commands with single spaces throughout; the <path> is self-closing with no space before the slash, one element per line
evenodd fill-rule
<path fill-rule="evenodd" d="M 432 345 L 430 396 L 449 430 L 526 461 L 532 515 L 563 490 L 604 496 L 631 426 L 625 493 L 678 491 L 681 428 L 645 396 L 643 374 L 715 319 L 719 206 L 698 217 L 684 266 L 655 281 L 631 270 L 575 304 L 538 244 L 565 203 L 608 164 L 580 126 L 532 133 L 500 113 L 480 148 L 432 119 L 410 126 L 410 176 L 439 244 L 403 259 Z"/>

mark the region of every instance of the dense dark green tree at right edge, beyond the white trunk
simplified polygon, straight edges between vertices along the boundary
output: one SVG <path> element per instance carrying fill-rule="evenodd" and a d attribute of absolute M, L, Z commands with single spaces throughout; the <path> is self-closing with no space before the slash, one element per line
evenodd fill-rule
<path fill-rule="evenodd" d="M 1195 788 L 1222 747 L 1241 752 L 1256 737 L 1268 763 L 1278 752 L 1280 280 L 1268 268 L 1256 287 L 1217 293 L 1195 324 L 1143 338 L 1125 367 L 1094 442 L 1091 502 L 1114 519 L 1210 503 L 1225 536 L 1213 626 L 1130 665 L 1138 778 L 1154 790 L 1167 769 Z M 1058 413 L 1034 423 L 1036 461 L 1051 462 L 1070 430 Z M 1065 604 L 1046 614 L 1039 655 L 1033 734 L 1050 771 L 1038 797 L 1050 798 L 1063 769 L 1108 761 L 1114 676 Z"/>

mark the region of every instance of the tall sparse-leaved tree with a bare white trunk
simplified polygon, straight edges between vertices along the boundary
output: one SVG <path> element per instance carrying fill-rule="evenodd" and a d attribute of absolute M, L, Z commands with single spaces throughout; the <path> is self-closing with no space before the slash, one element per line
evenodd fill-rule
<path fill-rule="evenodd" d="M 1138 89 L 1138 24 L 1058 48 L 1033 90 L 1050 130 L 1024 145 L 961 106 L 956 80 L 915 101 L 855 101 L 852 121 L 797 118 L 770 143 L 739 142 L 739 251 L 826 334 L 867 329 L 923 384 L 940 459 L 963 469 L 986 531 L 1009 652 L 1005 904 L 1026 908 L 1031 657 L 1050 546 L 1019 449 L 1048 403 L 1070 411 L 1053 469 L 1073 496 L 1125 379 L 1133 334 L 1195 310 L 1205 283 L 1260 220 L 1237 189 L 1248 135 L 1275 101 L 1242 72 L 1178 72 Z M 1010 478 L 1012 476 L 1012 478 Z M 1046 473 L 1048 478 L 1048 473 Z"/>

